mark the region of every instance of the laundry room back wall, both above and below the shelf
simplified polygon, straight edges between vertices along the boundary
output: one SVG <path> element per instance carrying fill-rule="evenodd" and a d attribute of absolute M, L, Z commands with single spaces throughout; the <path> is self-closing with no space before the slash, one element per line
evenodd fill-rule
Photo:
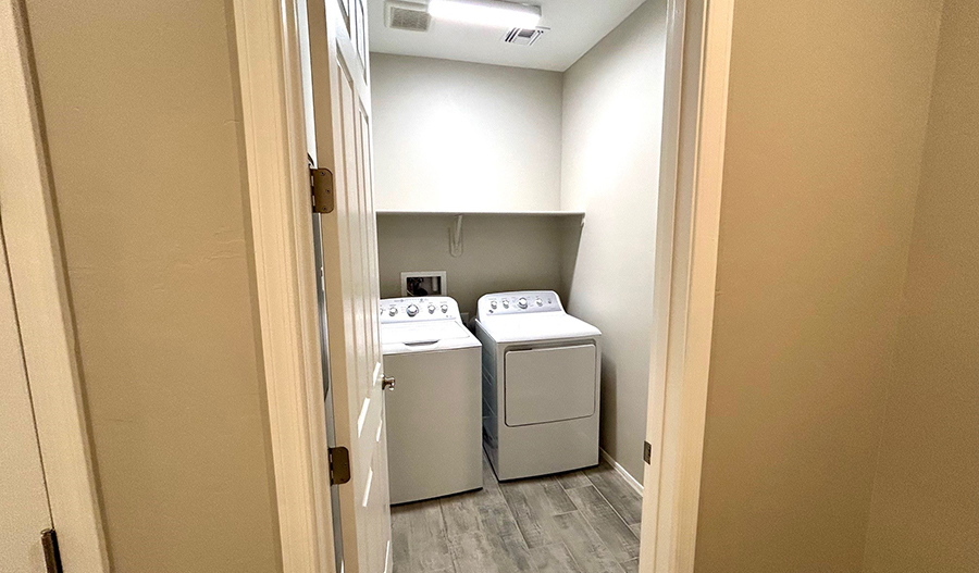
<path fill-rule="evenodd" d="M 371 54 L 377 209 L 533 211 L 560 208 L 561 74 Z M 547 216 L 466 215 L 449 254 L 447 215 L 380 215 L 381 296 L 400 273 L 445 271 L 448 294 L 475 312 L 486 292 L 567 297 L 567 224 Z"/>

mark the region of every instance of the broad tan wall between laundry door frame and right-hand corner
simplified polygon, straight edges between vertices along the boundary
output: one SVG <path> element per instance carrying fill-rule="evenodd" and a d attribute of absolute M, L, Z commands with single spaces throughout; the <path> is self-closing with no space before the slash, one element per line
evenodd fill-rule
<path fill-rule="evenodd" d="M 698 573 L 859 571 L 940 0 L 739 0 Z"/>

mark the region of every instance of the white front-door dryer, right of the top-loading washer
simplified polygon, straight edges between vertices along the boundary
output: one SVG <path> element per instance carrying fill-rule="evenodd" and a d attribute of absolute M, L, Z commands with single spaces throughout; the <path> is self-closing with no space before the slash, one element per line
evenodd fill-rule
<path fill-rule="evenodd" d="M 550 290 L 480 298 L 483 443 L 497 477 L 598 463 L 602 333 Z"/>

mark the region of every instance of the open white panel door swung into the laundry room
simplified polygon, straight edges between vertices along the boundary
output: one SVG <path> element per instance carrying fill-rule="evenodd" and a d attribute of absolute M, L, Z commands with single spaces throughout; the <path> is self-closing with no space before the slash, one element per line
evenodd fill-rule
<path fill-rule="evenodd" d="M 346 573 L 391 571 L 391 512 L 363 0 L 308 0 L 310 159 L 335 177 L 321 217 L 336 445 L 350 452 L 338 488 Z"/>

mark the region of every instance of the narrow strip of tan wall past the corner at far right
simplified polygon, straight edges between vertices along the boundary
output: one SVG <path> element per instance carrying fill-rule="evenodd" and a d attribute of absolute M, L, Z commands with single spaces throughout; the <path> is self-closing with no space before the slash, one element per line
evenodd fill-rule
<path fill-rule="evenodd" d="M 867 573 L 979 571 L 979 3 L 941 30 Z"/>

